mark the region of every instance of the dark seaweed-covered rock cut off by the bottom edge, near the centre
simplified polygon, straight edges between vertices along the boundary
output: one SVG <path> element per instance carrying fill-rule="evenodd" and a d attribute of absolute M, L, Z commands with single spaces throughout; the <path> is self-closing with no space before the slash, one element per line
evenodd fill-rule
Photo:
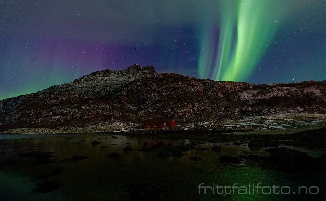
<path fill-rule="evenodd" d="M 129 185 L 129 197 L 132 201 L 166 199 L 167 188 L 157 183 L 143 183 Z"/>

